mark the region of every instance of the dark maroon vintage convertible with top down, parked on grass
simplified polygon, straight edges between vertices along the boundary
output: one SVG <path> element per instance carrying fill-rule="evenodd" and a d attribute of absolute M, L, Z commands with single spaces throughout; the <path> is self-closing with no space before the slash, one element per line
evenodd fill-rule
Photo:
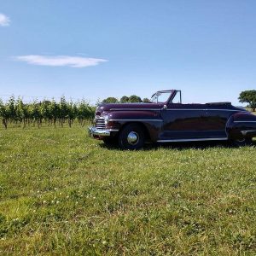
<path fill-rule="evenodd" d="M 256 116 L 230 102 L 182 104 L 180 90 L 161 90 L 147 103 L 100 104 L 90 137 L 120 148 L 143 148 L 145 142 L 230 141 L 252 143 Z"/>

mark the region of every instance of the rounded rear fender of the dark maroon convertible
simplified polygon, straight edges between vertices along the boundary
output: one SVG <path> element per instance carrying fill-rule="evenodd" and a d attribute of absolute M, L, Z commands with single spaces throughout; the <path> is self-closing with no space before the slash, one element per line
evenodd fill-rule
<path fill-rule="evenodd" d="M 253 113 L 234 113 L 226 124 L 229 139 L 256 137 L 256 115 Z"/>

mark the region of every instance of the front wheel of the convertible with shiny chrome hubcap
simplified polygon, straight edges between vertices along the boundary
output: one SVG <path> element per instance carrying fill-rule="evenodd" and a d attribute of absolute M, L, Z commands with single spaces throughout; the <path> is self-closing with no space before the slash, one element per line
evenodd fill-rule
<path fill-rule="evenodd" d="M 143 148 L 145 137 L 143 128 L 137 124 L 126 125 L 119 133 L 119 147 L 137 150 Z"/>

